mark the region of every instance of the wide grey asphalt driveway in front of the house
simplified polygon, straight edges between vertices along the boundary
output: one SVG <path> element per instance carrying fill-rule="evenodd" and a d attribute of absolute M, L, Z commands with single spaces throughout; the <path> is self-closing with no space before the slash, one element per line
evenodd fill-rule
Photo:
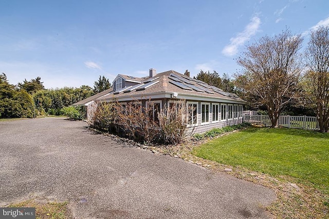
<path fill-rule="evenodd" d="M 84 122 L 0 122 L 0 205 L 68 201 L 75 218 L 268 218 L 272 190 L 95 134 Z"/>

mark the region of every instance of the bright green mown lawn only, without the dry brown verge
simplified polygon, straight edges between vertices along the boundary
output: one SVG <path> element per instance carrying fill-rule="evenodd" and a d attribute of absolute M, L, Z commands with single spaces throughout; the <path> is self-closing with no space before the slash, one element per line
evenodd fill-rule
<path fill-rule="evenodd" d="M 329 194 L 329 133 L 248 128 L 216 138 L 193 153 L 276 177 L 293 176 Z"/>

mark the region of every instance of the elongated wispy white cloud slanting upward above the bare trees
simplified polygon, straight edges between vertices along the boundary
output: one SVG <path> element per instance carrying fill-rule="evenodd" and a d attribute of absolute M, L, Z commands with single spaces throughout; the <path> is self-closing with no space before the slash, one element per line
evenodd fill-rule
<path fill-rule="evenodd" d="M 222 53 L 227 56 L 232 56 L 237 53 L 238 48 L 248 41 L 251 36 L 255 35 L 260 27 L 261 19 L 258 16 L 251 18 L 251 22 L 245 27 L 243 32 L 240 32 L 236 37 L 230 38 L 230 44 L 225 46 Z"/>

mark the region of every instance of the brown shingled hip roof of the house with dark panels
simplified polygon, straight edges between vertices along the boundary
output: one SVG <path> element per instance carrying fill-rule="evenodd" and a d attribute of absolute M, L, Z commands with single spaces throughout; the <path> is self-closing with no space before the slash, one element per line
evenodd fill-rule
<path fill-rule="evenodd" d="M 120 74 L 121 77 L 128 77 L 127 75 Z M 129 78 L 129 77 L 128 77 Z M 137 77 L 136 77 L 137 80 Z M 138 99 L 138 98 L 152 98 L 157 96 L 157 98 L 169 97 L 171 94 L 177 93 L 178 99 L 221 99 L 224 102 L 239 102 L 244 104 L 245 101 L 235 94 L 230 94 L 224 92 L 223 90 L 210 86 L 207 83 L 199 81 L 197 79 L 188 77 L 179 72 L 170 70 L 156 74 L 154 77 L 144 77 L 138 78 L 142 84 L 137 84 L 130 88 L 122 88 L 116 92 L 112 92 L 109 95 L 101 95 L 97 98 L 99 101 L 109 101 L 113 98 L 117 98 L 118 101 L 126 101 L 128 99 Z M 178 82 L 178 83 L 177 83 Z M 146 84 L 150 84 L 147 86 Z M 145 89 L 143 89 L 145 87 Z"/>

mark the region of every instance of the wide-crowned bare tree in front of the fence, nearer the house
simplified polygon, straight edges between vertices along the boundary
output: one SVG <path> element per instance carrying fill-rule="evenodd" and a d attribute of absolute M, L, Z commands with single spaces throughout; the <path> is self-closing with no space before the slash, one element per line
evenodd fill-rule
<path fill-rule="evenodd" d="M 297 92 L 300 75 L 301 35 L 293 35 L 286 29 L 275 36 L 261 37 L 237 58 L 245 68 L 244 90 L 258 96 L 259 105 L 265 105 L 271 127 L 278 126 L 278 118 L 284 106 Z"/>

